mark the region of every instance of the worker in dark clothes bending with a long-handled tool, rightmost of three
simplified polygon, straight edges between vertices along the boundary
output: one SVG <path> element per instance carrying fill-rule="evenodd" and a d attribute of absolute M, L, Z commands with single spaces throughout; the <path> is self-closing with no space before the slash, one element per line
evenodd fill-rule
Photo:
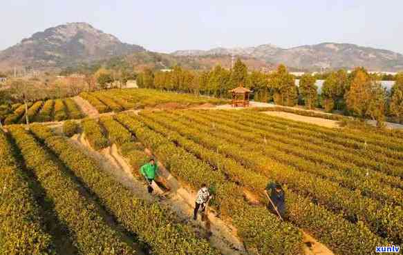
<path fill-rule="evenodd" d="M 270 195 L 269 195 L 270 192 Z M 274 214 L 280 214 L 281 218 L 285 215 L 285 192 L 279 183 L 268 183 L 265 188 L 265 194 L 270 198 L 268 210 Z M 273 204 L 275 208 L 273 207 Z M 277 210 L 277 212 L 276 212 Z"/>

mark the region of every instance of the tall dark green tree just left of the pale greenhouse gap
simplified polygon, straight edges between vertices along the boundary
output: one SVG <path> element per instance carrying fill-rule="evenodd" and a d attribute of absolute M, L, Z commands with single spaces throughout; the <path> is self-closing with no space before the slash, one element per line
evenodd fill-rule
<path fill-rule="evenodd" d="M 273 91 L 274 103 L 277 105 L 294 106 L 298 99 L 298 90 L 292 76 L 285 65 L 279 65 L 277 71 L 272 73 L 269 87 Z"/>

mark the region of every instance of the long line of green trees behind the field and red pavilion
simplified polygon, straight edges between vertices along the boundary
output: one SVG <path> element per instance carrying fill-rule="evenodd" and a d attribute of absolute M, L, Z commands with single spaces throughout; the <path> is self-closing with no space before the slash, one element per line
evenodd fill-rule
<path fill-rule="evenodd" d="M 209 71 L 185 70 L 180 66 L 171 72 L 145 69 L 137 75 L 139 88 L 186 92 L 228 98 L 227 92 L 238 85 L 252 89 L 252 99 L 277 105 L 305 105 L 308 109 L 323 108 L 326 112 L 342 112 L 348 116 L 376 120 L 382 125 L 386 116 L 403 123 L 403 73 L 397 74 L 390 92 L 382 88 L 382 76 L 369 74 L 364 68 L 328 72 L 321 93 L 315 85 L 318 76 L 303 74 L 299 85 L 285 65 L 274 72 L 248 72 L 237 59 L 231 70 L 221 65 Z"/>

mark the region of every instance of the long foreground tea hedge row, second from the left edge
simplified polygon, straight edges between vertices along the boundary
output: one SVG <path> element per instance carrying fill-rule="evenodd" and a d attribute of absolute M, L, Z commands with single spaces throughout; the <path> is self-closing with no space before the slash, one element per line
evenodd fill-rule
<path fill-rule="evenodd" d="M 38 125 L 37 125 L 38 126 Z M 73 242 L 83 254 L 135 254 L 103 218 L 98 206 L 88 200 L 81 187 L 66 174 L 60 164 L 26 130 L 13 127 L 10 132 L 21 150 L 26 167 L 46 191 L 47 199 L 68 228 Z"/>

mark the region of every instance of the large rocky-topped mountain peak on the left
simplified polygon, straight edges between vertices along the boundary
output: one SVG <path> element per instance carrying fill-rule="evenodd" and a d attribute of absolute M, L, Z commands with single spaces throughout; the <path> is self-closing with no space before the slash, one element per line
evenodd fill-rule
<path fill-rule="evenodd" d="M 37 32 L 1 51 L 0 68 L 60 68 L 144 51 L 141 46 L 122 43 L 88 23 L 67 23 Z"/>

